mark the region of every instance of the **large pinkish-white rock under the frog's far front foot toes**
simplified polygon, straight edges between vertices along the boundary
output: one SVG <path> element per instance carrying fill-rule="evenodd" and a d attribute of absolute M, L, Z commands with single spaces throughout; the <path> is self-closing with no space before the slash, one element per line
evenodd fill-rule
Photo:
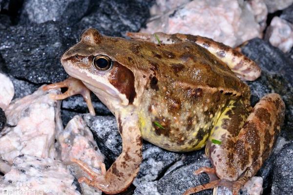
<path fill-rule="evenodd" d="M 63 128 L 60 101 L 50 98 L 58 90 L 36 92 L 12 101 L 5 113 L 7 123 L 0 133 L 0 172 L 7 173 L 16 156 L 25 154 L 40 157 L 57 156 L 55 132 Z"/>

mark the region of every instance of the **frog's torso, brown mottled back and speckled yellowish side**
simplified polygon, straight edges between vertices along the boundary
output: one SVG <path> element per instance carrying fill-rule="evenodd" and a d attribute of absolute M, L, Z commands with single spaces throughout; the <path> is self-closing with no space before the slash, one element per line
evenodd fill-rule
<path fill-rule="evenodd" d="M 248 97 L 248 86 L 194 43 L 149 47 L 140 52 L 149 64 L 139 102 L 143 137 L 172 151 L 203 147 L 223 108 L 230 99 Z"/>

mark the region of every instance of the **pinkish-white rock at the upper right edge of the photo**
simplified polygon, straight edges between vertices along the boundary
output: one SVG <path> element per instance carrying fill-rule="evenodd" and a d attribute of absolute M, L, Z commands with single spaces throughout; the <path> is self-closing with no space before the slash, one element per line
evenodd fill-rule
<path fill-rule="evenodd" d="M 293 46 L 293 24 L 275 16 L 267 28 L 265 39 L 285 53 L 291 51 Z"/>

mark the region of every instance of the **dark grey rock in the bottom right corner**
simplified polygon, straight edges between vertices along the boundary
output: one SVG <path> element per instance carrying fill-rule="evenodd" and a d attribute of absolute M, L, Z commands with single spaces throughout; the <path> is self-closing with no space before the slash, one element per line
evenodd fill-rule
<path fill-rule="evenodd" d="M 293 192 L 293 142 L 285 146 L 274 161 L 271 195 L 291 195 Z"/>

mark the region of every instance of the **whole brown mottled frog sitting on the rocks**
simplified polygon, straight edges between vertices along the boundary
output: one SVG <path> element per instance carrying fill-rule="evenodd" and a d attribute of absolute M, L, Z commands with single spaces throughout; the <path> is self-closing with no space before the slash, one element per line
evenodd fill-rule
<path fill-rule="evenodd" d="M 105 194 L 124 192 L 139 172 L 142 139 L 173 152 L 205 147 L 212 167 L 207 184 L 184 195 L 225 186 L 237 195 L 272 152 L 284 120 L 285 104 L 267 94 L 252 108 L 244 81 L 261 69 L 237 49 L 212 39 L 165 33 L 109 37 L 89 28 L 61 58 L 70 75 L 43 89 L 67 87 L 64 99 L 81 94 L 91 115 L 93 92 L 116 117 L 122 153 L 101 173 L 72 159 L 87 174 L 79 182 Z"/>

